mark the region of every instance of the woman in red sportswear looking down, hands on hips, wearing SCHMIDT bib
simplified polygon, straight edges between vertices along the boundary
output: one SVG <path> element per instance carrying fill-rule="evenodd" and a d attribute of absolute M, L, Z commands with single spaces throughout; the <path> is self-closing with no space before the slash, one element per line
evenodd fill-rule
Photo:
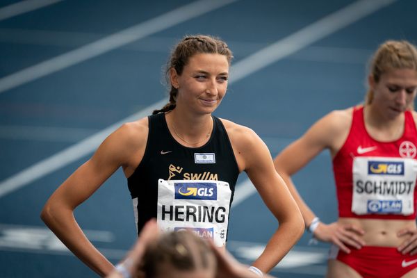
<path fill-rule="evenodd" d="M 333 111 L 275 158 L 313 235 L 333 243 L 327 277 L 417 277 L 417 49 L 387 41 L 370 65 L 363 106 Z M 291 175 L 323 149 L 333 158 L 339 218 L 324 224 Z"/>

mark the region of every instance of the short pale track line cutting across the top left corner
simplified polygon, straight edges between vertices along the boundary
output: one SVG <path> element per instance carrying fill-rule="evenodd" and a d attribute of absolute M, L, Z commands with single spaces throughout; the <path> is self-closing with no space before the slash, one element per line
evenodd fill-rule
<path fill-rule="evenodd" d="M 49 6 L 60 1 L 63 0 L 26 0 L 17 2 L 0 8 L 0 20 L 15 17 L 16 15 L 22 15 L 22 13 L 28 13 L 32 10 L 37 10 L 38 8 L 43 8 L 44 6 Z"/>

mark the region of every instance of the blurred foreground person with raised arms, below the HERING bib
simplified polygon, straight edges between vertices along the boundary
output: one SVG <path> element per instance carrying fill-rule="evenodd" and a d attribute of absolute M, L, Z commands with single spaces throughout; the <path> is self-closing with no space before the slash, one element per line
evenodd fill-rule
<path fill-rule="evenodd" d="M 181 230 L 161 234 L 149 220 L 126 258 L 107 278 L 256 278 L 211 240 Z M 272 277 L 263 275 L 263 277 Z"/>

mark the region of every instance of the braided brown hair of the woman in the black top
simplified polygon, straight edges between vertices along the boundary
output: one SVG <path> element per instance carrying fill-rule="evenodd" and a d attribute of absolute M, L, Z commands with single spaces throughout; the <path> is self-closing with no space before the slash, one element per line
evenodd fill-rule
<path fill-rule="evenodd" d="M 167 84 L 170 85 L 170 102 L 163 108 L 155 110 L 152 114 L 171 111 L 177 104 L 178 88 L 170 84 L 170 70 L 174 69 L 178 75 L 181 75 L 183 68 L 187 65 L 190 57 L 195 54 L 220 54 L 224 55 L 231 64 L 233 54 L 226 42 L 220 38 L 211 35 L 186 35 L 176 47 L 174 47 L 170 60 L 167 63 L 165 77 Z"/>

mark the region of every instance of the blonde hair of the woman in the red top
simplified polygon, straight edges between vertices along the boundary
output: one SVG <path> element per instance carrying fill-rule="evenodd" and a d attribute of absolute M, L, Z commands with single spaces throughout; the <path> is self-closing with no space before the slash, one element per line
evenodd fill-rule
<path fill-rule="evenodd" d="M 406 40 L 387 40 L 379 46 L 370 61 L 370 74 L 375 83 L 379 82 L 382 74 L 391 70 L 409 69 L 417 72 L 417 49 Z M 369 89 L 366 93 L 365 104 L 373 101 L 374 92 Z M 411 102 L 414 109 L 414 102 Z"/>

